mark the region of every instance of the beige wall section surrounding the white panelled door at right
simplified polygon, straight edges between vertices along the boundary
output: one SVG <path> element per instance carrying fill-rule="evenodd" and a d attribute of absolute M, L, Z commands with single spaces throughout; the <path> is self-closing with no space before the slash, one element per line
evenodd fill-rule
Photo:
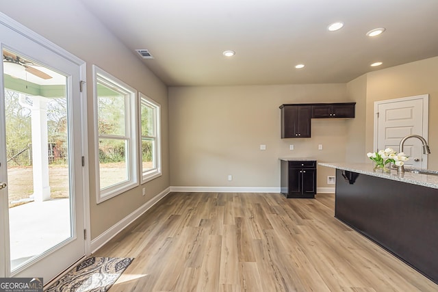
<path fill-rule="evenodd" d="M 365 89 L 363 81 L 365 79 Z M 428 144 L 431 154 L 428 157 L 428 168 L 438 170 L 438 57 L 424 59 L 417 62 L 403 64 L 359 77 L 348 83 L 350 96 L 365 96 L 365 120 L 355 125 L 349 131 L 353 137 L 363 131 L 365 135 L 357 139 L 364 142 L 366 152 L 373 149 L 374 142 L 374 102 L 387 99 L 429 94 L 429 131 Z M 362 102 L 363 103 L 363 102 Z M 359 135 L 360 136 L 360 135 Z M 352 144 L 350 144 L 353 146 Z M 352 147 L 353 148 L 353 147 Z M 361 148 L 359 152 L 363 152 Z"/>

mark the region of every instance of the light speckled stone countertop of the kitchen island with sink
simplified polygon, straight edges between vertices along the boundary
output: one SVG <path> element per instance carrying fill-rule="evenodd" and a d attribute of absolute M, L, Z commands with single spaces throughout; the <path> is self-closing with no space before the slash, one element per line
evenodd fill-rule
<path fill-rule="evenodd" d="M 374 172 L 372 163 L 318 163 L 321 166 L 328 168 L 337 168 L 339 170 L 347 170 L 350 172 L 357 172 L 359 174 L 367 174 L 370 176 L 377 176 L 381 178 L 391 179 L 393 181 L 402 181 L 403 183 L 411 183 L 413 185 L 422 185 L 424 187 L 432 187 L 438 189 L 438 175 L 432 174 L 416 174 L 412 172 L 404 172 L 404 175 L 398 175 L 397 170 L 391 170 L 391 173 Z M 407 170 L 409 168 L 406 168 Z M 438 171 L 428 170 L 438 174 Z"/>

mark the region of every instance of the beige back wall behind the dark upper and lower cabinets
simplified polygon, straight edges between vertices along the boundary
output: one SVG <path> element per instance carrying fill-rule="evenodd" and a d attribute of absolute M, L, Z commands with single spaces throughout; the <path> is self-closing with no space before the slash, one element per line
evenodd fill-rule
<path fill-rule="evenodd" d="M 279 157 L 344 161 L 354 119 L 313 119 L 311 138 L 281 139 L 279 109 L 283 103 L 344 101 L 350 101 L 345 83 L 172 87 L 170 185 L 279 187 Z M 260 144 L 266 150 L 259 150 Z M 333 173 L 318 167 L 318 187 L 333 187 L 326 185 Z"/>

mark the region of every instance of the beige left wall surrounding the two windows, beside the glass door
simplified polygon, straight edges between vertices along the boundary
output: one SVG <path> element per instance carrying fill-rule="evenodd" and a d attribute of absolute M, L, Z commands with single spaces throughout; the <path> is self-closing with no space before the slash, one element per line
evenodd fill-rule
<path fill-rule="evenodd" d="M 91 237 L 94 239 L 169 186 L 166 85 L 142 64 L 139 57 L 96 21 L 80 1 L 29 0 L 14 1 L 10 4 L 2 5 L 1 12 L 87 63 L 88 163 Z M 163 176 L 146 183 L 146 196 L 142 196 L 141 187 L 136 187 L 116 198 L 96 204 L 92 64 L 96 64 L 162 105 Z"/>

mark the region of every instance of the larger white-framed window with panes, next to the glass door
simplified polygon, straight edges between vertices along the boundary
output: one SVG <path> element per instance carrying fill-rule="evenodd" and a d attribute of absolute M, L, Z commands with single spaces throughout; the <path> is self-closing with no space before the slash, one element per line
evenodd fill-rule
<path fill-rule="evenodd" d="M 138 185 L 136 90 L 93 66 L 97 202 Z"/>

